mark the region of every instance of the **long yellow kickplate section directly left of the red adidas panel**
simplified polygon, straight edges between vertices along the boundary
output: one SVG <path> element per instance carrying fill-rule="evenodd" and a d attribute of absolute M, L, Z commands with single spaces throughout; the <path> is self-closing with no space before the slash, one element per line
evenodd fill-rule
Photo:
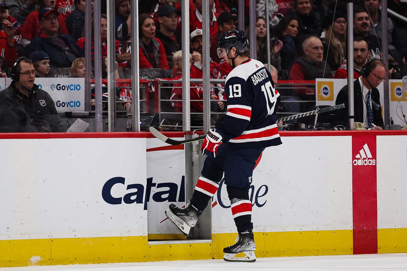
<path fill-rule="evenodd" d="M 351 230 L 267 232 L 266 257 L 353 254 Z"/>

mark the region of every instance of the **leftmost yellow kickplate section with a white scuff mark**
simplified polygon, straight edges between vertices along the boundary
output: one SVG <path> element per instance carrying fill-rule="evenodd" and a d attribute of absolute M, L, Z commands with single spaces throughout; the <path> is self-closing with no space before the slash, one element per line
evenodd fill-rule
<path fill-rule="evenodd" d="M 50 265 L 51 239 L 0 240 L 0 267 Z"/>

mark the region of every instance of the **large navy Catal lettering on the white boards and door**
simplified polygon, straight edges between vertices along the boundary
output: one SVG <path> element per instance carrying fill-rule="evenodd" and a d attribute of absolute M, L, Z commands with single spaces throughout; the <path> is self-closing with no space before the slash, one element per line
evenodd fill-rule
<path fill-rule="evenodd" d="M 155 188 L 155 189 L 153 189 Z M 106 203 L 132 204 L 143 203 L 147 210 L 147 202 L 185 202 L 185 177 L 181 184 L 166 182 L 154 183 L 153 178 L 147 178 L 147 184 L 129 184 L 124 177 L 114 177 L 105 182 L 102 188 L 102 198 Z"/>

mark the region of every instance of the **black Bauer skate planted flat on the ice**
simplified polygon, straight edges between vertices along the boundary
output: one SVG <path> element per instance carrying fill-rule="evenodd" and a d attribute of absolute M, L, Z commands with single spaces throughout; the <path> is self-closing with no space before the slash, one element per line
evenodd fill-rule
<path fill-rule="evenodd" d="M 255 250 L 256 244 L 254 243 L 253 231 L 239 232 L 239 235 L 236 237 L 236 243 L 223 249 L 225 253 L 223 260 L 227 262 L 256 262 Z M 246 256 L 236 257 L 241 252 Z"/>

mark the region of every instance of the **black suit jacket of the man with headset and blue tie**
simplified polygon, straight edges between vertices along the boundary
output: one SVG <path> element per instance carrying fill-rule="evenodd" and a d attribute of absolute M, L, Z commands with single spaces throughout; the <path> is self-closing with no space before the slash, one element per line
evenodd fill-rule
<path fill-rule="evenodd" d="M 362 122 L 363 123 L 363 96 L 362 90 L 360 88 L 359 79 L 356 79 L 353 82 L 354 85 L 354 121 L 355 122 Z M 345 104 L 345 108 L 338 109 L 336 114 L 339 116 L 339 122 L 337 125 L 344 125 L 349 127 L 349 118 L 348 118 L 348 85 L 342 87 L 339 91 L 338 96 L 336 97 L 335 105 L 340 105 L 341 103 Z M 381 106 L 380 106 L 380 94 L 377 88 L 372 88 L 372 94 L 370 96 L 372 98 L 372 113 L 373 113 L 373 123 L 376 126 L 380 126 L 384 129 L 384 122 L 381 113 Z M 368 114 L 366 112 L 366 114 Z"/>

